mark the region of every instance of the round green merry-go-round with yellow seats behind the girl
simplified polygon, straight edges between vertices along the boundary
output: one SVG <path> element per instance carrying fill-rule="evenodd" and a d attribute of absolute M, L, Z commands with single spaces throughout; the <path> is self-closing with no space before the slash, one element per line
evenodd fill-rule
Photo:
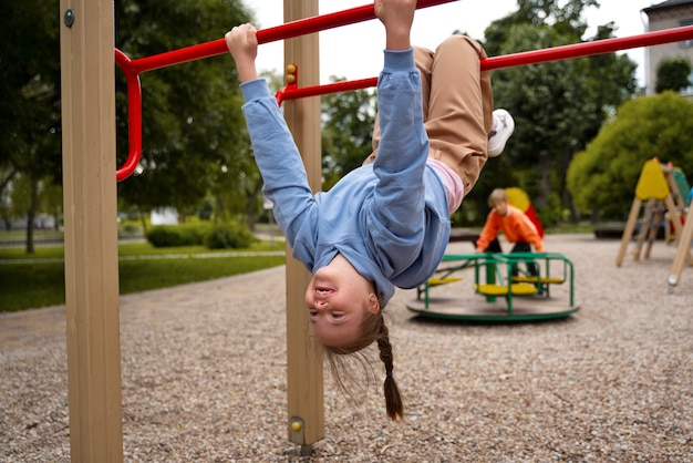
<path fill-rule="evenodd" d="M 524 272 L 529 263 L 539 264 L 538 276 Z M 406 305 L 418 316 L 520 321 L 568 317 L 580 309 L 575 301 L 572 263 L 561 254 L 454 254 L 443 256 L 441 265 L 438 276 L 417 288 L 416 299 Z M 461 274 L 465 269 L 474 270 L 467 290 L 463 285 L 448 291 L 437 289 L 464 281 Z M 567 285 L 567 291 L 558 298 L 551 295 L 557 285 Z"/>

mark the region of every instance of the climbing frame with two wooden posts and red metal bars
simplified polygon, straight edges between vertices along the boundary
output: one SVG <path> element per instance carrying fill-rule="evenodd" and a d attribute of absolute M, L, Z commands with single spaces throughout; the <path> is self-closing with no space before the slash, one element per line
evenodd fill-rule
<path fill-rule="evenodd" d="M 418 8 L 447 1 L 452 0 L 420 0 Z M 372 4 L 323 17 L 318 17 L 317 12 L 317 0 L 286 0 L 288 22 L 259 31 L 261 43 L 294 38 L 285 42 L 285 60 L 298 63 L 301 78 L 309 85 L 288 89 L 283 100 L 375 85 L 375 78 L 355 82 L 349 89 L 311 85 L 318 74 L 317 53 L 307 51 L 316 50 L 317 35 L 307 38 L 304 34 L 374 18 Z M 61 14 L 71 457 L 73 461 L 114 462 L 123 460 L 114 181 L 127 178 L 142 153 L 139 73 L 223 54 L 226 47 L 221 39 L 138 60 L 130 60 L 115 51 L 116 63 L 127 80 L 130 131 L 127 161 L 116 169 L 113 1 L 61 1 Z M 483 68 L 541 63 L 689 39 L 693 39 L 693 25 L 489 58 L 483 62 Z M 287 107 L 285 115 L 299 150 L 308 155 L 309 179 L 314 185 L 320 179 L 319 102 L 294 104 L 299 107 Z M 306 124 L 297 124 L 301 117 Z M 290 260 L 287 264 L 287 336 L 291 339 L 287 351 L 288 435 L 291 442 L 301 444 L 303 451 L 321 439 L 322 366 L 304 336 L 308 325 L 302 306 L 304 281 L 292 276 L 300 269 L 291 267 Z"/>

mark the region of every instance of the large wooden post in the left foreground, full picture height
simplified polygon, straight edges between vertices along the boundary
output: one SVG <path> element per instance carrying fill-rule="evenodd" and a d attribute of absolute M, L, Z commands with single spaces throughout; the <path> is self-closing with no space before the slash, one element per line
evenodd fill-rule
<path fill-rule="evenodd" d="M 60 8 L 71 459 L 122 462 L 113 0 Z"/>

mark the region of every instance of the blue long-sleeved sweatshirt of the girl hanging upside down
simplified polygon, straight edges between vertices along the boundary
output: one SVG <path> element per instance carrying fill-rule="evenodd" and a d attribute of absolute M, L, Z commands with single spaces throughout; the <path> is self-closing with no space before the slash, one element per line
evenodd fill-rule
<path fill-rule="evenodd" d="M 314 196 L 296 143 L 265 80 L 241 84 L 255 158 L 296 259 L 314 272 L 341 253 L 375 284 L 382 307 L 396 287 L 415 288 L 449 239 L 447 198 L 426 165 L 421 80 L 413 50 L 384 52 L 377 82 L 375 161 Z"/>

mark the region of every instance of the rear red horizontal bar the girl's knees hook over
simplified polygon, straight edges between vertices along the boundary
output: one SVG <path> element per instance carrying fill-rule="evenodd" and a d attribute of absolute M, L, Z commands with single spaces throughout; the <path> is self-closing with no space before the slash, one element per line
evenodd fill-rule
<path fill-rule="evenodd" d="M 679 42 L 690 39 L 693 39 L 693 25 L 647 32 L 640 35 L 603 39 L 596 40 L 593 42 L 554 47 L 550 49 L 524 51 L 503 56 L 492 56 L 482 61 L 482 69 L 490 71 L 494 69 L 538 64 L 549 61 L 611 53 L 619 50 L 635 49 L 640 47 L 660 45 L 662 43 Z M 362 79 L 350 82 L 333 82 L 323 85 L 304 88 L 288 85 L 277 93 L 277 101 L 281 104 L 283 100 L 298 100 L 308 96 L 327 95 L 330 93 L 368 89 L 375 85 L 377 85 L 377 78 Z"/>

